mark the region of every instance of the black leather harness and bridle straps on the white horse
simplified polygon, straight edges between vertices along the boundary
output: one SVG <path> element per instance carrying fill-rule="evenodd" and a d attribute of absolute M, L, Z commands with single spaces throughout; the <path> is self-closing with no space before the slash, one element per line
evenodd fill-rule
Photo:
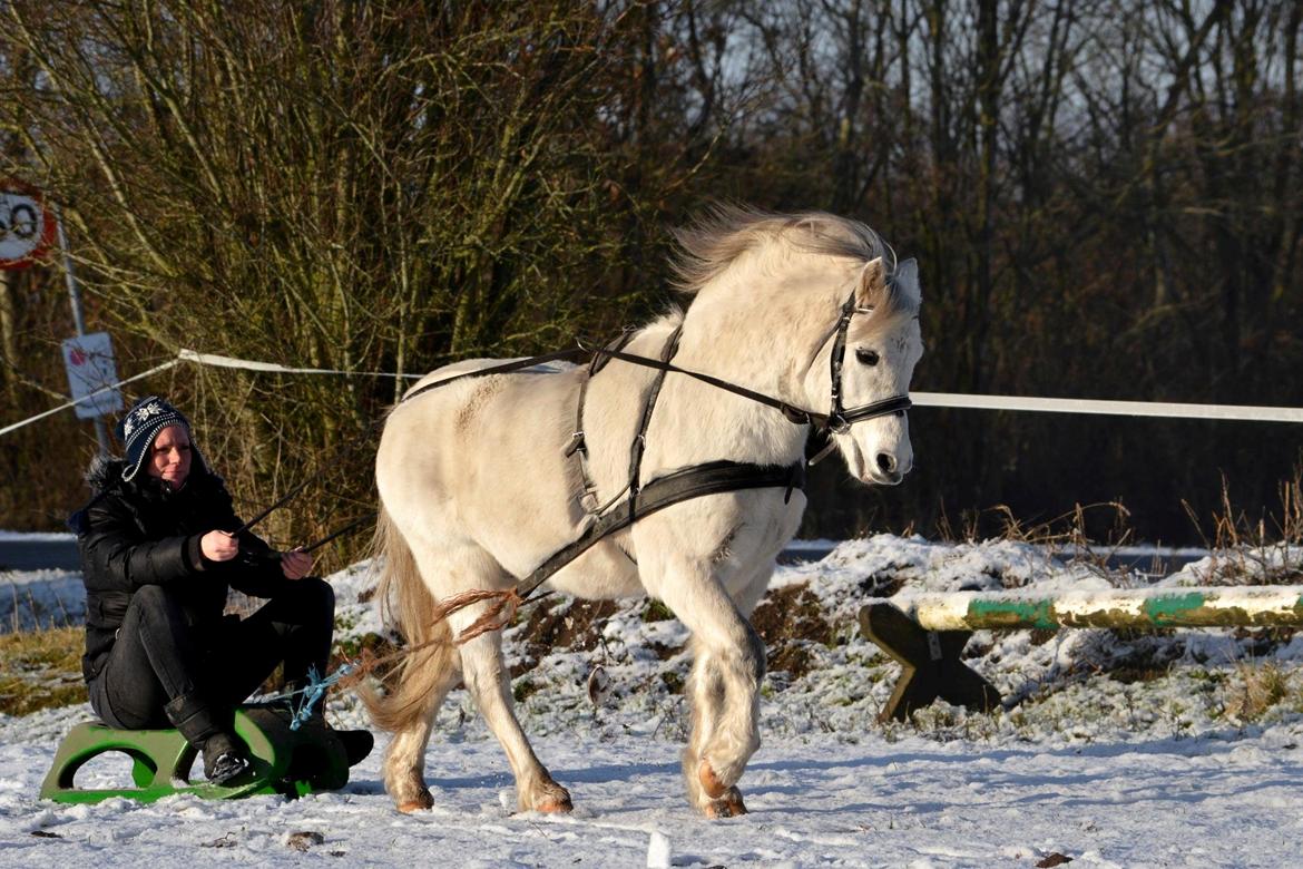
<path fill-rule="evenodd" d="M 661 387 L 665 384 L 665 378 L 670 373 L 694 378 L 726 392 L 732 392 L 734 395 L 749 399 L 757 404 L 774 408 L 782 412 L 783 417 L 787 418 L 788 422 L 795 425 L 810 426 L 810 436 L 814 438 L 816 442 L 826 442 L 820 448 L 818 457 L 822 457 L 829 449 L 831 449 L 831 436 L 834 434 L 846 434 L 856 422 L 873 420 L 876 417 L 885 417 L 889 414 L 899 416 L 908 410 L 912 403 L 906 395 L 891 396 L 890 399 L 872 401 L 850 409 L 843 405 L 842 369 L 846 361 L 846 339 L 847 332 L 851 328 L 851 318 L 855 317 L 857 310 L 859 309 L 855 307 L 855 293 L 852 291 L 851 297 L 846 300 L 844 305 L 842 305 L 842 313 L 837 321 L 837 328 L 833 337 L 833 353 L 830 357 L 833 395 L 830 401 L 831 410 L 829 413 L 820 413 L 817 410 L 801 408 L 783 401 L 782 399 L 765 395 L 764 392 L 756 392 L 754 390 L 748 390 L 747 387 L 737 386 L 736 383 L 722 380 L 710 374 L 672 365 L 671 360 L 679 349 L 679 336 L 683 331 L 681 324 L 670 335 L 670 340 L 666 341 L 665 349 L 661 352 L 661 358 L 649 358 L 645 356 L 625 353 L 624 347 L 635 335 L 633 331 L 627 330 L 619 339 L 606 347 L 586 348 L 581 344 L 580 347 L 568 350 L 558 350 L 543 356 L 515 360 L 486 369 L 456 374 L 435 383 L 427 383 L 426 386 L 403 396 L 403 403 L 410 401 L 412 399 L 416 399 L 417 396 L 431 390 L 437 390 L 468 378 L 509 374 L 512 371 L 521 371 L 546 362 L 577 362 L 589 357 L 589 367 L 580 384 L 575 434 L 572 435 L 569 444 L 566 447 L 566 456 L 579 456 L 580 474 L 584 481 L 580 503 L 593 521 L 577 539 L 567 543 L 564 547 L 550 555 L 542 564 L 534 568 L 528 577 L 521 580 L 517 586 L 517 594 L 520 598 L 526 598 L 539 585 L 546 582 L 552 577 L 552 575 L 582 555 L 592 546 L 610 534 L 633 525 L 633 522 L 642 516 L 650 516 L 659 509 L 665 509 L 666 507 L 689 500 L 692 498 L 717 495 L 730 491 L 743 491 L 748 489 L 786 489 L 786 500 L 791 498 L 794 489 L 804 489 L 807 465 L 804 459 L 787 466 L 758 465 L 753 463 L 728 460 L 708 461 L 701 465 L 684 468 L 681 470 L 655 477 L 646 483 L 642 483 L 642 455 L 646 451 L 646 431 L 648 426 L 652 423 L 652 413 L 655 410 L 657 399 L 661 395 Z M 588 444 L 584 435 L 584 404 L 588 397 L 589 382 L 611 360 L 655 369 L 658 374 L 655 380 L 652 383 L 650 391 L 648 392 L 646 404 L 642 406 L 638 433 L 635 435 L 633 442 L 629 446 L 629 482 L 609 502 L 599 504 L 597 487 L 593 483 L 589 472 Z M 813 461 L 810 464 L 813 464 Z M 628 496 L 624 498 L 625 495 Z M 622 498 L 623 500 L 620 500 Z"/>

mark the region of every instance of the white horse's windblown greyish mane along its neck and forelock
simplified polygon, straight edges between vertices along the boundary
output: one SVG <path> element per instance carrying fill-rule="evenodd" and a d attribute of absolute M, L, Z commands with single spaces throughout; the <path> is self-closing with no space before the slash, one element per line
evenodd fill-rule
<path fill-rule="evenodd" d="M 895 251 L 873 229 L 822 211 L 775 214 L 732 205 L 715 206 L 691 227 L 675 232 L 679 255 L 672 267 L 680 292 L 693 294 L 718 278 L 739 257 L 761 245 L 784 241 L 807 253 L 846 257 L 861 263 L 883 258 L 895 271 Z M 882 315 L 904 311 L 894 284 L 876 304 Z"/>

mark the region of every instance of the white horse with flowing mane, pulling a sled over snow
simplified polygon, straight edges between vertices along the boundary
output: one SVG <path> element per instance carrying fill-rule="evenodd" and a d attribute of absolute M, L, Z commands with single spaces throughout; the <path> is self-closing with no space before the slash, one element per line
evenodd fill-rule
<path fill-rule="evenodd" d="M 681 327 L 674 365 L 790 405 L 833 413 L 908 392 L 923 356 L 919 284 L 912 262 L 889 274 L 889 251 L 868 227 L 826 214 L 722 210 L 679 241 L 691 305 L 636 332 L 625 353 L 659 358 Z M 844 366 L 830 375 L 834 354 L 844 354 Z M 487 365 L 440 369 L 413 391 Z M 589 380 L 581 427 L 601 502 L 629 482 L 631 442 L 659 375 L 611 360 Z M 434 804 L 425 749 L 459 676 L 507 753 L 520 809 L 571 808 L 516 719 L 500 631 L 453 642 L 487 603 L 446 619 L 435 606 L 513 588 L 593 521 L 577 461 L 566 455 L 585 377 L 585 367 L 564 367 L 463 378 L 404 400 L 386 422 L 375 463 L 380 599 L 421 648 L 369 706 L 377 726 L 395 732 L 384 784 L 403 812 Z M 645 433 L 641 479 L 715 460 L 794 465 L 809 430 L 773 406 L 670 373 Z M 865 483 L 899 483 L 913 463 L 902 412 L 838 426 L 831 438 Z M 736 784 L 760 745 L 765 672 L 748 618 L 804 508 L 804 495 L 783 487 L 684 500 L 601 541 L 547 584 L 582 598 L 650 595 L 692 632 L 683 771 L 689 801 L 709 817 L 745 812 Z"/>

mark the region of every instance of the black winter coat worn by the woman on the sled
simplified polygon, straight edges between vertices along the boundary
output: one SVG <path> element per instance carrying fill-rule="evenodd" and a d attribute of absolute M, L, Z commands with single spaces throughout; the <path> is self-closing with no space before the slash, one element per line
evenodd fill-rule
<path fill-rule="evenodd" d="M 214 530 L 233 532 L 235 513 L 222 477 L 195 461 L 185 485 L 172 491 L 143 470 L 122 479 L 122 461 L 98 459 L 86 476 L 95 495 L 68 520 L 77 533 L 86 582 L 86 654 L 90 681 L 104 667 L 132 595 L 145 585 L 165 585 L 180 602 L 201 645 L 215 636 L 227 591 L 272 597 L 284 588 L 280 554 L 250 532 L 240 534 L 240 555 L 211 562 L 199 548 Z"/>

